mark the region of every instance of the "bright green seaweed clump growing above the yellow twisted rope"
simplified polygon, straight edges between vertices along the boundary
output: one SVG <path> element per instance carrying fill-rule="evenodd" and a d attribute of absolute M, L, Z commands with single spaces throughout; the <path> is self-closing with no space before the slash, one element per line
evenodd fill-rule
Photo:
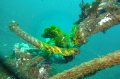
<path fill-rule="evenodd" d="M 49 44 L 56 45 L 58 47 L 66 48 L 69 47 L 70 38 L 69 35 L 65 34 L 60 28 L 55 25 L 50 26 L 44 30 L 41 35 L 43 38 L 49 38 Z"/>

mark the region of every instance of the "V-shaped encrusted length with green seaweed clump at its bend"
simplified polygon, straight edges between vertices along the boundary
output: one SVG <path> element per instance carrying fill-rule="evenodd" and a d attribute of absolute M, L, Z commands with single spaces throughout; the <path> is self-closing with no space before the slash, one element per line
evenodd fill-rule
<path fill-rule="evenodd" d="M 110 15 L 108 16 L 108 14 Z M 107 11 L 102 13 L 98 17 L 88 16 L 82 22 L 80 22 L 79 25 L 75 25 L 74 28 L 76 30 L 73 31 L 71 36 L 67 36 L 55 25 L 52 25 L 50 28 L 46 28 L 44 34 L 42 35 L 44 38 L 54 40 L 52 41 L 52 44 L 39 41 L 38 39 L 30 36 L 20 29 L 19 24 L 15 21 L 11 22 L 9 27 L 18 36 L 33 44 L 40 49 L 40 51 L 43 51 L 49 56 L 54 54 L 61 56 L 74 56 L 78 53 L 79 47 L 87 42 L 88 36 L 99 31 L 105 31 L 113 24 L 119 24 L 119 14 L 120 11 L 118 8 L 113 12 Z"/>

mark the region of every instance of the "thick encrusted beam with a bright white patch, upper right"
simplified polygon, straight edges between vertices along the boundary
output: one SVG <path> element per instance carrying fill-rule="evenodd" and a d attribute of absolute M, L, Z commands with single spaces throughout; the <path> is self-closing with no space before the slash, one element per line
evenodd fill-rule
<path fill-rule="evenodd" d="M 113 4 L 110 5 L 112 2 Z M 105 32 L 113 25 L 120 23 L 120 5 L 116 0 L 108 1 L 108 3 L 106 0 L 102 0 L 96 11 L 95 13 L 91 13 L 92 15 L 87 15 L 79 23 L 77 22 L 78 24 L 76 25 L 76 31 L 72 41 L 76 46 L 81 46 L 86 43 L 90 35 L 100 31 Z"/>

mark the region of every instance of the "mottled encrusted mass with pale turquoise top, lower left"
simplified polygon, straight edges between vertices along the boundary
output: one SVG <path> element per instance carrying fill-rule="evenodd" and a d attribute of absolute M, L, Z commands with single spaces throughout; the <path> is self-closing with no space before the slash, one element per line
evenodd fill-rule
<path fill-rule="evenodd" d="M 49 76 L 48 72 L 51 68 L 45 63 L 41 63 L 44 61 L 44 58 L 39 56 L 40 53 L 36 55 L 34 52 L 37 51 L 29 51 L 32 47 L 25 43 L 17 43 L 14 48 L 16 49 L 16 47 L 20 50 L 14 50 L 13 54 L 6 58 L 5 63 L 9 65 L 16 74 L 19 74 L 20 79 L 46 79 Z M 26 47 L 28 47 L 28 49 L 26 49 Z M 25 48 L 25 50 L 21 52 L 21 48 Z M 45 72 L 39 73 L 41 68 L 44 68 Z M 9 76 L 6 77 L 10 78 Z"/>

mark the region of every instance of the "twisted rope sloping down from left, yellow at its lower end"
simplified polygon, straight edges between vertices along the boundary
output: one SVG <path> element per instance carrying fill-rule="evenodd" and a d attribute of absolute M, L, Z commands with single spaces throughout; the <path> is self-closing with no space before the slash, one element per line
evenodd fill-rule
<path fill-rule="evenodd" d="M 18 36 L 28 41 L 32 45 L 36 46 L 40 51 L 44 51 L 45 54 L 53 55 L 58 54 L 61 56 L 70 56 L 78 53 L 79 49 L 70 47 L 70 48 L 61 48 L 58 46 L 49 45 L 46 42 L 38 41 L 38 39 L 32 37 L 31 35 L 24 32 L 16 22 L 11 22 L 9 25 L 10 29 L 14 31 Z M 55 27 L 54 27 L 55 28 Z M 59 42 L 59 41 L 58 41 Z M 64 43 L 63 43 L 64 44 Z"/>

